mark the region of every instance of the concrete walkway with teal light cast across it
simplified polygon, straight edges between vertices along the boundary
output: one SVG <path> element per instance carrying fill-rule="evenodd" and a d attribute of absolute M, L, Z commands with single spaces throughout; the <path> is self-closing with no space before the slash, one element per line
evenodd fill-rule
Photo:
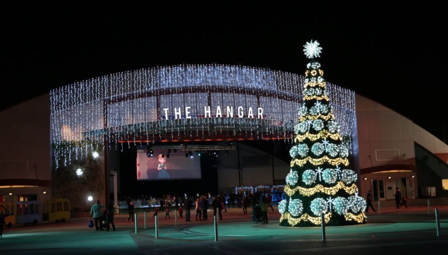
<path fill-rule="evenodd" d="M 269 224 L 255 224 L 250 213 L 241 208 L 223 211 L 215 235 L 213 211 L 209 221 L 165 219 L 159 213 L 158 237 L 154 218 L 143 212 L 135 224 L 126 221 L 127 214 L 115 217 L 117 231 L 95 231 L 87 227 L 89 218 L 69 219 L 64 223 L 43 222 L 38 225 L 15 225 L 3 232 L 0 239 L 2 255 L 53 254 L 427 254 L 428 248 L 445 249 L 448 243 L 448 198 L 409 200 L 408 208 L 396 209 L 394 201 L 381 202 L 381 212 L 367 213 L 367 224 L 326 227 L 279 226 L 280 213 L 269 212 Z M 377 208 L 377 203 L 374 203 Z M 438 232 L 435 209 L 438 209 Z M 185 215 L 185 213 L 184 213 Z M 160 217 L 162 216 L 162 217 Z M 137 231 L 136 231 L 137 230 Z M 137 232 L 137 233 L 136 233 Z M 215 241 L 218 239 L 217 241 Z M 323 240 L 325 239 L 325 240 Z M 301 253 L 300 253 L 301 254 Z"/>

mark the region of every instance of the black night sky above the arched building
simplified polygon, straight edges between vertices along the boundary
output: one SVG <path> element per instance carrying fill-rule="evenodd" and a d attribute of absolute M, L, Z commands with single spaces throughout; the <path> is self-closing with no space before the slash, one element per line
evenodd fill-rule
<path fill-rule="evenodd" d="M 323 48 L 327 81 L 448 140 L 447 21 L 438 13 L 443 8 L 433 7 L 170 17 L 139 6 L 46 15 L 9 10 L 1 17 L 0 109 L 76 81 L 157 65 L 241 64 L 303 74 L 303 45 L 312 39 Z"/>

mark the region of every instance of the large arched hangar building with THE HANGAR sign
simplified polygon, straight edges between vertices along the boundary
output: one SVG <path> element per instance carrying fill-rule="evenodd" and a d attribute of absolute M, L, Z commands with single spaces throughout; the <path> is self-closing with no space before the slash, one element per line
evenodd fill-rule
<path fill-rule="evenodd" d="M 353 91 L 331 83 L 327 91 L 363 196 L 393 199 L 396 187 L 410 199 L 447 195 L 446 143 Z M 303 76 L 229 65 L 140 69 L 63 86 L 0 112 L 0 197 L 50 198 L 55 173 L 82 170 L 80 160 L 95 152 L 101 187 L 79 189 L 80 199 L 108 199 L 114 188 L 130 194 L 128 187 L 158 195 L 160 187 L 282 185 L 302 97 Z M 168 168 L 170 179 L 143 166 L 156 166 L 158 155 L 180 162 Z"/>

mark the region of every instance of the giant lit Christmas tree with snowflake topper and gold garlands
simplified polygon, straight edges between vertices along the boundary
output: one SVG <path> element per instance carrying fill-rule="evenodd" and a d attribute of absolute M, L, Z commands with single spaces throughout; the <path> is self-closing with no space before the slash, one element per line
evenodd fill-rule
<path fill-rule="evenodd" d="M 349 148 L 342 142 L 323 70 L 317 61 L 319 43 L 304 45 L 306 65 L 303 105 L 295 126 L 295 145 L 290 154 L 291 172 L 286 177 L 287 198 L 279 204 L 282 226 L 329 226 L 365 223 L 366 201 L 358 196 L 358 175 L 349 168 Z"/>

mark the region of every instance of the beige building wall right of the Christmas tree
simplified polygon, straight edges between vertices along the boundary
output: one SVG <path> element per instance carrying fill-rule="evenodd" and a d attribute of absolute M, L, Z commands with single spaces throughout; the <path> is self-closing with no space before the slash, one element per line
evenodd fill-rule
<path fill-rule="evenodd" d="M 414 142 L 448 163 L 447 144 L 391 109 L 368 98 L 356 95 L 356 116 L 361 170 L 387 165 L 416 166 Z M 413 175 L 414 178 L 412 178 Z M 373 188 L 370 185 L 371 180 L 384 180 L 386 184 L 385 199 L 394 199 L 392 193 L 397 181 L 391 182 L 389 176 L 392 180 L 402 180 L 404 178 L 403 180 L 408 184 L 415 183 L 414 189 L 408 190 L 408 194 L 418 197 L 418 172 L 362 175 L 361 194 L 365 197 L 367 191 Z M 364 180 L 364 178 L 367 178 L 367 180 Z M 387 190 L 387 187 L 392 187 L 393 190 Z"/>

